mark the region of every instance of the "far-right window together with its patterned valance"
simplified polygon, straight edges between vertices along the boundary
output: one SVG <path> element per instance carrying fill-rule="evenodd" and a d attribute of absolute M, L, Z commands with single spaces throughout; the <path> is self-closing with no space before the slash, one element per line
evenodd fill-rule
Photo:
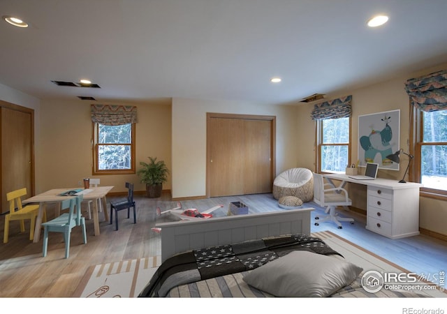
<path fill-rule="evenodd" d="M 423 196 L 447 200 L 447 70 L 405 82 L 410 98 L 410 180 L 424 184 Z"/>

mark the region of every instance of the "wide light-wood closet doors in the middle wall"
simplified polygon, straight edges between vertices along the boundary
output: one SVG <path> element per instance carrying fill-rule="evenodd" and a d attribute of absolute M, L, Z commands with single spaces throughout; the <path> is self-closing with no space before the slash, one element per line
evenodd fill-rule
<path fill-rule="evenodd" d="M 270 193 L 274 117 L 207 116 L 207 195 Z"/>

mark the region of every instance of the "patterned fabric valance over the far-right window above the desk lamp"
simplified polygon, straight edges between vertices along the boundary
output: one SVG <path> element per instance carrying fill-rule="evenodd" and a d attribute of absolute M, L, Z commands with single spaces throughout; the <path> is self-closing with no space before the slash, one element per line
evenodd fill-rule
<path fill-rule="evenodd" d="M 405 90 L 420 110 L 447 110 L 447 70 L 407 80 Z"/>

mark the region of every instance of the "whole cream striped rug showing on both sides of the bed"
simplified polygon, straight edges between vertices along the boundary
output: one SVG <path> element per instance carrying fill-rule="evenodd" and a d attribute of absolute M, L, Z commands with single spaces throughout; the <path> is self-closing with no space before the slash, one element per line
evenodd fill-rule
<path fill-rule="evenodd" d="M 362 267 L 364 271 L 378 271 L 382 274 L 409 274 L 409 271 L 379 255 L 365 250 L 330 231 L 314 232 L 312 237 L 325 241 L 346 260 Z M 135 260 L 99 264 L 89 268 L 73 297 L 138 297 L 161 264 L 161 257 L 145 257 Z M 425 280 L 418 280 L 421 285 L 434 285 Z M 444 286 L 436 290 L 417 290 L 427 297 L 447 297 Z"/>

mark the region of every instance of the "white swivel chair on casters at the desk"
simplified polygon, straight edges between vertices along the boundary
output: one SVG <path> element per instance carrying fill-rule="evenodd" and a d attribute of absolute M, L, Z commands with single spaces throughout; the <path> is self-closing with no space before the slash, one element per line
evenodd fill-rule
<path fill-rule="evenodd" d="M 325 184 L 323 176 L 317 173 L 314 173 L 314 202 L 326 209 L 326 215 L 316 215 L 315 225 L 330 220 L 336 223 L 339 229 L 342 229 L 341 221 L 354 223 L 353 218 L 340 218 L 335 212 L 337 206 L 346 207 L 352 204 L 348 192 L 344 188 L 336 188 L 332 184 Z"/>

